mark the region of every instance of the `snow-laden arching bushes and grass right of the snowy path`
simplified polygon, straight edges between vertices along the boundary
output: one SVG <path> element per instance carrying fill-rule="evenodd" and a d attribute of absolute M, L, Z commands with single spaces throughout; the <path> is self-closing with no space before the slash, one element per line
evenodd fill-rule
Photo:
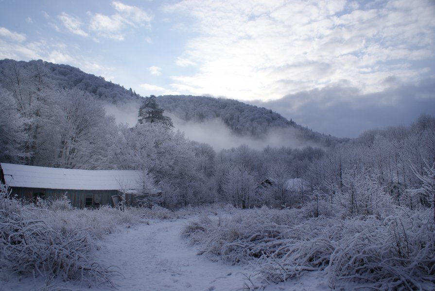
<path fill-rule="evenodd" d="M 435 229 L 430 211 L 305 217 L 306 210 L 237 210 L 230 217 L 201 216 L 182 235 L 200 254 L 230 263 L 255 262 L 264 282 L 307 271 L 327 272 L 328 284 L 379 290 L 435 288 Z"/>

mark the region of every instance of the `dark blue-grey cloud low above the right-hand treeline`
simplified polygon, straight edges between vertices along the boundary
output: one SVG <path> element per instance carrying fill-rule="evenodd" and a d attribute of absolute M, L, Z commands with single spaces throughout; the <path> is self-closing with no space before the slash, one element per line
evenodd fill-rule
<path fill-rule="evenodd" d="M 367 129 L 408 125 L 421 113 L 435 115 L 434 78 L 401 85 L 397 85 L 394 76 L 387 79 L 392 87 L 378 93 L 361 94 L 356 88 L 335 86 L 250 103 L 337 137 L 356 137 Z"/>

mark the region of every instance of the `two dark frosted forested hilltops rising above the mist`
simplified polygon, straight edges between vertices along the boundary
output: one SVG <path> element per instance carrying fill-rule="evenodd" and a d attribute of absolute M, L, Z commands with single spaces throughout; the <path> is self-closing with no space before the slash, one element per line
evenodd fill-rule
<path fill-rule="evenodd" d="M 11 75 L 11 72 L 14 72 Z M 79 89 L 96 99 L 114 105 L 134 103 L 138 105 L 142 97 L 132 88 L 105 81 L 103 77 L 87 74 L 70 65 L 57 65 L 41 60 L 14 61 L 0 60 L 0 81 L 3 88 L 13 90 L 14 83 L 27 74 L 34 74 L 32 82 L 44 82 L 45 86 Z M 21 87 L 26 84 L 21 84 Z M 24 90 L 24 89 L 22 89 Z M 242 102 L 199 96 L 159 96 L 157 102 L 162 109 L 173 113 L 185 121 L 204 122 L 218 118 L 236 135 L 264 138 L 273 129 L 296 129 L 295 138 L 301 142 L 311 141 L 319 146 L 330 146 L 347 139 L 337 139 L 320 134 L 287 120 L 280 114 Z M 137 113 L 127 113 L 137 116 Z"/>

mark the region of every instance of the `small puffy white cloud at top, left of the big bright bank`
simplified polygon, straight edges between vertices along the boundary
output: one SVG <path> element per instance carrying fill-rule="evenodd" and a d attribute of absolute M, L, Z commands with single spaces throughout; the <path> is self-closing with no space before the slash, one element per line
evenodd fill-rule
<path fill-rule="evenodd" d="M 112 6 L 118 13 L 106 16 L 96 13 L 91 16 L 89 29 L 97 32 L 101 37 L 115 40 L 124 40 L 124 33 L 127 27 L 137 28 L 146 26 L 150 28 L 153 19 L 145 11 L 136 6 L 129 6 L 120 1 L 113 1 Z"/>

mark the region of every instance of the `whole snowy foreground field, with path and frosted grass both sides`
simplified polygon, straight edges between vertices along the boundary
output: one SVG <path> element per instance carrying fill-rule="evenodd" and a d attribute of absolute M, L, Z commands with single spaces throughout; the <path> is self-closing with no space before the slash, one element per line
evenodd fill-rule
<path fill-rule="evenodd" d="M 66 196 L 23 204 L 6 192 L 0 291 L 435 290 L 431 209 L 80 210 Z"/>

